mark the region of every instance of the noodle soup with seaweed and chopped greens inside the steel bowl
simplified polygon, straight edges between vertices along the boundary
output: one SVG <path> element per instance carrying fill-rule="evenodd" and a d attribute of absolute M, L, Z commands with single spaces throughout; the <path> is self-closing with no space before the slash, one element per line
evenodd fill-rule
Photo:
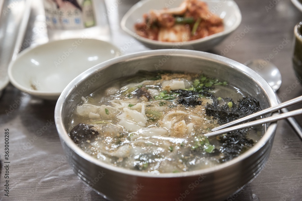
<path fill-rule="evenodd" d="M 74 108 L 69 136 L 105 163 L 150 173 L 213 167 L 244 153 L 264 125 L 204 137 L 259 111 L 259 102 L 203 74 L 146 72 L 114 80 Z"/>

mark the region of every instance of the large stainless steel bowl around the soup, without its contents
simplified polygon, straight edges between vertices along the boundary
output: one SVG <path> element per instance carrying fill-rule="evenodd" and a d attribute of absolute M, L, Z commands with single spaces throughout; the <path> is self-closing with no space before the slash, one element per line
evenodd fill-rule
<path fill-rule="evenodd" d="M 82 96 L 102 85 L 138 70 L 175 70 L 200 73 L 227 80 L 260 101 L 262 109 L 277 104 L 274 91 L 257 73 L 236 61 L 215 54 L 190 50 L 155 50 L 100 63 L 74 79 L 56 104 L 55 122 L 74 172 L 109 200 L 224 200 L 252 181 L 271 151 L 277 123 L 246 153 L 213 168 L 193 172 L 146 172 L 113 167 L 86 154 L 69 138 L 69 117 Z"/>

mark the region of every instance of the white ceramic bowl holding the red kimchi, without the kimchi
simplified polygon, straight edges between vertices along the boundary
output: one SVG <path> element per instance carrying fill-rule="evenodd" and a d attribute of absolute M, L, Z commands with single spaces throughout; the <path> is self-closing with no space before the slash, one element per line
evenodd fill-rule
<path fill-rule="evenodd" d="M 148 13 L 151 9 L 175 8 L 182 2 L 183 0 L 142 0 L 130 8 L 121 20 L 120 25 L 124 31 L 152 49 L 178 48 L 206 51 L 220 43 L 241 22 L 241 12 L 233 0 L 203 0 L 203 2 L 207 3 L 212 14 L 216 14 L 223 19 L 223 32 L 187 42 L 162 42 L 147 39 L 136 34 L 134 24 L 143 21 L 143 14 Z"/>

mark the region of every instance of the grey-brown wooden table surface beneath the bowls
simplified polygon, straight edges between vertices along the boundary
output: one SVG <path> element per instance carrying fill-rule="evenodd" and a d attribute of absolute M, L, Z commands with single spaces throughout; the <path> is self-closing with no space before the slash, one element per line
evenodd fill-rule
<path fill-rule="evenodd" d="M 293 29 L 302 13 L 290 0 L 235 0 L 242 12 L 238 29 L 209 52 L 244 63 L 255 58 L 270 59 L 282 74 L 278 96 L 282 100 L 302 95 L 292 69 Z M 123 47 L 131 37 L 120 29 L 123 15 L 136 2 L 108 0 L 112 42 Z M 34 19 L 31 19 L 34 20 Z M 31 26 L 27 36 L 31 34 Z M 241 34 L 241 36 L 240 36 Z M 244 36 L 243 36 L 244 35 Z M 239 37 L 240 36 L 240 37 Z M 41 40 L 43 42 L 43 40 Z M 234 42 L 230 50 L 230 43 Z M 124 52 L 148 50 L 140 42 Z M 0 200 L 106 200 L 87 187 L 72 172 L 54 124 L 55 101 L 32 97 L 8 85 L 0 98 Z M 301 108 L 302 104 L 290 107 Z M 296 117 L 302 125 L 301 116 Z M 4 196 L 5 129 L 9 129 L 9 197 Z M 283 120 L 278 123 L 270 158 L 262 172 L 238 194 L 227 200 L 302 200 L 302 141 Z"/>

